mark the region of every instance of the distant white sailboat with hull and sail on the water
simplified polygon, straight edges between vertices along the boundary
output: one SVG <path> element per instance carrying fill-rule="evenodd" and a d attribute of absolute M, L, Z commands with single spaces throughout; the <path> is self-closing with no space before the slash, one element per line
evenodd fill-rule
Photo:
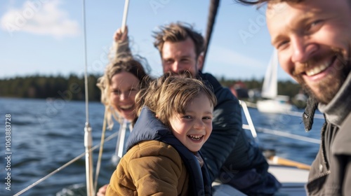
<path fill-rule="evenodd" d="M 261 97 L 263 100 L 258 100 L 257 109 L 260 112 L 266 113 L 286 113 L 293 109 L 293 105 L 289 103 L 289 97 L 278 95 L 278 52 L 274 49 L 272 57 L 265 72 L 265 80 Z"/>

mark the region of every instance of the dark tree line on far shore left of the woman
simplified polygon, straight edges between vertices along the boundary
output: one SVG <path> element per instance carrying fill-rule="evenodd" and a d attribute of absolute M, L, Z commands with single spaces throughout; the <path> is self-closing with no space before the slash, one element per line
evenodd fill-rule
<path fill-rule="evenodd" d="M 96 82 L 100 76 L 88 76 L 88 99 L 100 101 L 100 90 Z M 25 76 L 0 79 L 0 97 L 61 98 L 84 100 L 84 76 Z"/>

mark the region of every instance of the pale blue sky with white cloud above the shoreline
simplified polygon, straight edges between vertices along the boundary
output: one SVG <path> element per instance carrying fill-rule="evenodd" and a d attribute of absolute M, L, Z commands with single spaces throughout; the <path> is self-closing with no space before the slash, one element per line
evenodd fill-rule
<path fill-rule="evenodd" d="M 2 0 L 0 79 L 82 76 L 85 67 L 88 73 L 102 74 L 114 31 L 121 27 L 124 4 L 123 0 Z M 152 76 L 162 73 L 152 31 L 180 21 L 205 36 L 209 5 L 210 0 L 129 1 L 126 25 L 132 52 L 147 59 Z M 273 51 L 264 13 L 264 8 L 220 1 L 203 72 L 226 79 L 262 79 Z M 290 78 L 281 68 L 278 75 L 279 80 Z"/>

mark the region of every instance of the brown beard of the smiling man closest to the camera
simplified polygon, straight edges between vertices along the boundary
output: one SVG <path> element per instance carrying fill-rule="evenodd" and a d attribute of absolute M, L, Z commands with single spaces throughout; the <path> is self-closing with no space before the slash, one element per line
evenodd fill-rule
<path fill-rule="evenodd" d="M 340 90 L 340 87 L 343 85 L 343 83 L 345 83 L 345 80 L 351 70 L 350 59 L 346 61 L 345 59 L 340 59 L 342 58 L 341 55 L 337 55 L 337 57 L 338 60 L 342 62 L 340 64 L 340 69 L 335 70 L 338 71 L 339 77 L 335 77 L 335 75 L 326 76 L 326 78 L 324 78 L 324 80 L 322 80 L 317 86 L 314 86 L 313 88 L 317 88 L 319 89 L 319 92 L 322 92 L 319 95 L 313 92 L 312 88 L 305 83 L 305 80 L 303 80 L 303 77 L 300 74 L 294 76 L 296 81 L 301 85 L 301 87 L 303 87 L 303 90 L 307 92 L 309 96 L 313 97 L 322 104 L 329 104 L 329 102 L 331 102 L 333 97 L 335 97 L 336 93 L 338 93 Z"/>

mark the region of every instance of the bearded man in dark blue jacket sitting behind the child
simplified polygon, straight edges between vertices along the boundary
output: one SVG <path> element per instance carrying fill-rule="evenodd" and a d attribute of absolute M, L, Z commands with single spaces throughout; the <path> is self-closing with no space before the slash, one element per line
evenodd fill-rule
<path fill-rule="evenodd" d="M 171 23 L 154 32 L 164 73 L 192 76 L 211 83 L 218 100 L 213 112 L 211 137 L 201 148 L 212 181 L 218 179 L 248 195 L 272 195 L 280 183 L 267 172 L 260 149 L 242 129 L 239 101 L 210 73 L 201 73 L 204 38 L 191 26 Z"/>

